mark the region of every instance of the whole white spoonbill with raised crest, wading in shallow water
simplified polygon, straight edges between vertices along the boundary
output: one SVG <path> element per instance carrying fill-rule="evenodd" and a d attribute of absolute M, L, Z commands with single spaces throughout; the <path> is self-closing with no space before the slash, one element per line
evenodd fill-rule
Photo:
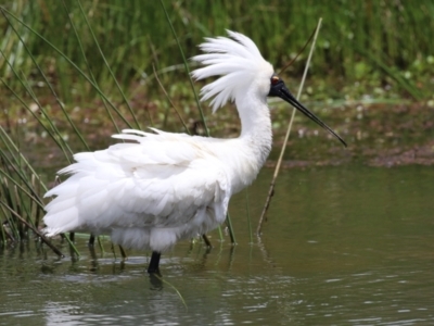
<path fill-rule="evenodd" d="M 214 97 L 213 112 L 234 101 L 241 135 L 233 139 L 126 129 L 105 150 L 74 155 L 71 174 L 44 197 L 47 236 L 66 231 L 110 234 L 125 248 L 151 250 L 149 273 L 161 253 L 181 239 L 206 234 L 224 223 L 232 195 L 251 185 L 271 150 L 267 97 L 279 97 L 344 140 L 303 106 L 246 36 L 206 38 L 194 61 L 195 79 L 221 76 L 201 90 Z"/>

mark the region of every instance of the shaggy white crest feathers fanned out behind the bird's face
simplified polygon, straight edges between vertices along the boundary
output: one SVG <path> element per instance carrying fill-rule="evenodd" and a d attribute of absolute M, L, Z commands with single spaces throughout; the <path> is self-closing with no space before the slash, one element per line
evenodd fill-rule
<path fill-rule="evenodd" d="M 272 66 L 264 60 L 256 45 L 246 36 L 227 30 L 232 38 L 205 38 L 206 42 L 199 47 L 205 54 L 193 57 L 192 60 L 207 66 L 192 72 L 195 79 L 212 76 L 222 76 L 201 89 L 201 100 L 215 97 L 210 104 L 213 112 L 221 108 L 228 100 L 233 101 L 237 93 L 245 91 L 246 87 L 266 71 L 271 77 Z"/>

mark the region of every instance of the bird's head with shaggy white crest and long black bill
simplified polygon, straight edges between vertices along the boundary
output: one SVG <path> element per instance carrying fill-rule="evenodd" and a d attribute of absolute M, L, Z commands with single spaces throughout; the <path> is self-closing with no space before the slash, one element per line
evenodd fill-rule
<path fill-rule="evenodd" d="M 275 73 L 272 65 L 263 58 L 248 37 L 240 33 L 227 32 L 230 38 L 205 38 L 206 41 L 200 45 L 205 54 L 192 58 L 206 65 L 192 72 L 195 79 L 221 76 L 201 89 L 203 101 L 214 97 L 210 102 L 213 112 L 225 105 L 228 100 L 257 97 L 258 100 L 265 101 L 267 97 L 279 97 L 346 146 L 336 133 L 295 99 L 284 82 Z"/>

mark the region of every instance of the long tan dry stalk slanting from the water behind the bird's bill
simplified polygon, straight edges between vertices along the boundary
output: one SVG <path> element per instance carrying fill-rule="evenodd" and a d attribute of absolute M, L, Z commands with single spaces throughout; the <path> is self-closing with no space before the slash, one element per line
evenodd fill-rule
<path fill-rule="evenodd" d="M 299 88 L 298 88 L 298 92 L 297 92 L 297 97 L 296 97 L 297 100 L 299 99 L 299 96 L 302 95 L 303 86 L 304 86 L 305 80 L 306 80 L 307 71 L 309 70 L 309 64 L 310 64 L 311 57 L 314 54 L 315 43 L 317 41 L 318 33 L 319 33 L 319 29 L 321 27 L 321 22 L 322 22 L 322 18 L 319 18 L 318 25 L 317 25 L 317 29 L 315 32 L 312 45 L 311 45 L 311 48 L 310 48 L 309 57 L 307 58 L 305 71 L 303 73 L 302 83 L 301 83 Z M 256 235 L 258 237 L 260 237 L 260 229 L 263 227 L 263 223 L 264 223 L 265 216 L 266 216 L 268 208 L 270 205 L 271 197 L 275 195 L 276 179 L 278 178 L 279 171 L 280 171 L 280 165 L 282 164 L 283 154 L 284 154 L 284 151 L 286 149 L 288 139 L 290 138 L 290 133 L 291 133 L 292 124 L 294 122 L 295 112 L 296 112 L 296 109 L 294 108 L 293 111 L 292 111 L 290 124 L 288 126 L 286 135 L 285 135 L 285 138 L 283 140 L 283 145 L 282 145 L 282 149 L 281 149 L 281 152 L 280 152 L 280 156 L 279 156 L 278 163 L 276 164 L 275 174 L 272 176 L 270 188 L 268 190 L 267 200 L 265 202 L 265 205 L 264 205 L 264 209 L 263 209 L 263 213 L 260 214 L 259 225 L 258 225 L 258 227 L 256 229 Z"/>

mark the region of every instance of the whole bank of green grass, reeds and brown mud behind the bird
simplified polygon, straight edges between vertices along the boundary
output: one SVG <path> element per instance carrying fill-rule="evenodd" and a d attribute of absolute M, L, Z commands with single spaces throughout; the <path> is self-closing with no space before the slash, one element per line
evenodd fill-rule
<path fill-rule="evenodd" d="M 434 164 L 433 15 L 434 2 L 427 0 L 310 0 L 284 7 L 260 0 L 5 3 L 0 7 L 5 36 L 0 42 L 0 210 L 8 226 L 0 227 L 0 242 L 38 228 L 41 196 L 52 181 L 43 171 L 68 164 L 75 152 L 114 143 L 110 136 L 123 128 L 183 133 L 181 116 L 194 134 L 208 128 L 214 137 L 238 136 L 233 105 L 212 116 L 202 104 L 204 126 L 170 27 L 186 58 L 199 53 L 204 37 L 226 35 L 226 28 L 241 32 L 279 72 L 322 17 L 299 100 L 348 149 L 297 115 L 283 168 Z M 293 93 L 307 55 L 303 52 L 281 76 Z M 195 91 L 202 85 L 195 83 Z M 272 100 L 270 106 L 278 149 L 292 109 Z M 277 152 L 267 166 L 276 164 Z"/>

